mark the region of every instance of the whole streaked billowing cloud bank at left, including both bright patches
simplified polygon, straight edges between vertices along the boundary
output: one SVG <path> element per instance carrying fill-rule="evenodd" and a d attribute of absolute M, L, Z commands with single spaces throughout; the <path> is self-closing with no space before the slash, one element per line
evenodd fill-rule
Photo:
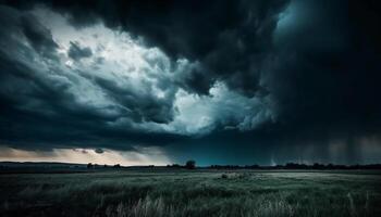
<path fill-rule="evenodd" d="M 226 127 L 244 130 L 270 118 L 265 114 L 268 111 L 262 111 L 268 107 L 261 99 L 229 90 L 222 81 L 208 88 L 206 95 L 192 91 L 184 84 L 201 67 L 199 62 L 172 61 L 160 49 L 147 48 L 127 33 L 102 24 L 76 29 L 47 8 L 2 10 L 16 15 L 10 30 L 19 36 L 8 41 L 17 49 L 2 50 L 8 53 L 2 56 L 1 92 L 3 101 L 10 101 L 2 117 L 4 123 L 20 117 L 12 122 L 17 130 L 4 129 L 8 133 L 3 139 L 9 143 L 108 145 L 108 139 L 116 139 L 121 140 L 116 146 L 126 140 L 125 148 L 120 149 L 128 149 L 138 137 L 133 135 L 150 133 L 153 139 L 148 141 L 157 142 L 156 133 L 205 135 Z M 30 27 L 17 26 L 25 14 L 44 29 L 37 29 L 39 40 L 29 39 L 23 31 Z M 49 48 L 49 55 L 40 48 Z M 25 52 L 16 53 L 22 49 Z M 257 113 L 251 110 L 263 117 L 255 120 Z"/>

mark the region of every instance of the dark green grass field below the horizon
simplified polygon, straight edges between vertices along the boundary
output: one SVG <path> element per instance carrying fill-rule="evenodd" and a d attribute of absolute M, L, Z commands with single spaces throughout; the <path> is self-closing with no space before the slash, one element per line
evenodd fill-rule
<path fill-rule="evenodd" d="M 0 175 L 0 216 L 381 216 L 381 174 L 122 169 Z"/>

